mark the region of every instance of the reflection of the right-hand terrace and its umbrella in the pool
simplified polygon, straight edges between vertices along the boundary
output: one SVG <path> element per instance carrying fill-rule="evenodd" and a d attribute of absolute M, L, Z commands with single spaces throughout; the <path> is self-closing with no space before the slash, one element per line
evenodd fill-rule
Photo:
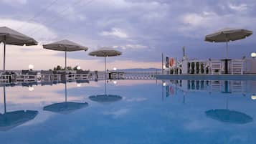
<path fill-rule="evenodd" d="M 235 110 L 228 110 L 229 95 L 232 93 L 240 93 L 245 96 L 245 93 L 253 90 L 247 87 L 247 82 L 245 81 L 206 81 L 206 80 L 171 80 L 170 85 L 165 85 L 166 87 L 166 97 L 172 95 L 171 92 L 173 86 L 177 87 L 181 92 L 183 92 L 184 103 L 185 103 L 185 92 L 220 92 L 226 95 L 226 109 L 216 109 L 207 110 L 205 113 L 207 117 L 214 120 L 219 120 L 224 123 L 235 123 L 244 124 L 253 121 L 250 115 Z M 164 84 L 164 83 L 163 83 Z M 251 85 L 250 85 L 251 86 Z M 162 89 L 163 90 L 163 89 Z M 163 93 L 163 92 L 162 92 Z M 254 96 L 251 97 L 252 100 L 256 99 Z"/>

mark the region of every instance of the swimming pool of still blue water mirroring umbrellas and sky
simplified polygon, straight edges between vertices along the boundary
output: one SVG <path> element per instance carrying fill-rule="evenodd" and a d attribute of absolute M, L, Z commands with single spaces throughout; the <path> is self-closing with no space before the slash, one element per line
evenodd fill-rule
<path fill-rule="evenodd" d="M 118 80 L 108 97 L 104 87 L 5 87 L 5 105 L 0 87 L 0 143 L 256 143 L 255 81 Z"/>

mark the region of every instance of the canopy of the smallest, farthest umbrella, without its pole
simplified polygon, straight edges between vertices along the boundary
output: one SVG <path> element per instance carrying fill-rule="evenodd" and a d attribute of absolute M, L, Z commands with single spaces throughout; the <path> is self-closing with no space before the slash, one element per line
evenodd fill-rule
<path fill-rule="evenodd" d="M 109 47 L 102 47 L 96 51 L 89 53 L 89 55 L 96 56 L 96 57 L 114 57 L 121 54 L 122 52 L 119 52 L 115 49 L 110 49 Z"/>

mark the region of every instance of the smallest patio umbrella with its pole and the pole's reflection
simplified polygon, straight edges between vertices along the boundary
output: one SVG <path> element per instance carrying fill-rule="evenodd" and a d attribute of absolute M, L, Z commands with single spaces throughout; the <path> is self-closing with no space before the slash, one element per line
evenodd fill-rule
<path fill-rule="evenodd" d="M 106 65 L 106 57 L 115 57 L 118 55 L 121 55 L 122 52 L 119 52 L 115 49 L 111 49 L 109 47 L 102 47 L 96 51 L 90 52 L 90 56 L 96 56 L 96 57 L 104 57 L 105 58 L 105 94 L 106 94 L 106 79 L 107 79 L 107 65 Z"/>

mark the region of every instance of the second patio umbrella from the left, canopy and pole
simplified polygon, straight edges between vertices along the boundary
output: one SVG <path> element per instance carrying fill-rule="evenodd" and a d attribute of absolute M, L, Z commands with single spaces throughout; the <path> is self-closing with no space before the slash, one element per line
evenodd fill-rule
<path fill-rule="evenodd" d="M 87 51 L 88 47 L 84 47 L 75 42 L 71 42 L 70 40 L 62 40 L 59 42 L 53 42 L 50 44 L 44 44 L 44 49 L 51 49 L 56 51 L 65 51 L 65 70 L 67 69 L 67 52 L 74 52 L 84 50 Z"/>

